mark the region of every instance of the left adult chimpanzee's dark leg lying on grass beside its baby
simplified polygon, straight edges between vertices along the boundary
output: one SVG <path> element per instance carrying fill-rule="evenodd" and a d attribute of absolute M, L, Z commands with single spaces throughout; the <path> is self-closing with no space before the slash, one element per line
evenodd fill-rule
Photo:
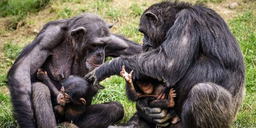
<path fill-rule="evenodd" d="M 124 117 L 124 108 L 119 102 L 106 102 L 88 107 L 86 117 L 81 123 L 76 123 L 81 128 L 105 128 L 115 124 Z"/>

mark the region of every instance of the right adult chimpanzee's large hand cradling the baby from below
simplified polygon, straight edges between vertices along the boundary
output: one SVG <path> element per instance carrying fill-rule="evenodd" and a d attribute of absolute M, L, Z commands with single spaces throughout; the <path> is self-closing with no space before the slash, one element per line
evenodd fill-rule
<path fill-rule="evenodd" d="M 138 113 L 148 122 L 166 127 L 170 124 L 166 121 L 171 118 L 171 114 L 168 112 L 168 109 L 150 108 L 149 102 L 152 100 L 155 100 L 155 98 L 145 97 L 139 99 L 136 104 Z"/>

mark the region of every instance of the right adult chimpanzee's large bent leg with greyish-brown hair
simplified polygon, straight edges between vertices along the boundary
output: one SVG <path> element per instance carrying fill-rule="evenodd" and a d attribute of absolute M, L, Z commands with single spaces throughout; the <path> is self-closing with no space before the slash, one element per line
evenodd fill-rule
<path fill-rule="evenodd" d="M 181 120 L 186 128 L 229 128 L 233 121 L 233 98 L 213 83 L 195 85 L 183 105 Z"/>

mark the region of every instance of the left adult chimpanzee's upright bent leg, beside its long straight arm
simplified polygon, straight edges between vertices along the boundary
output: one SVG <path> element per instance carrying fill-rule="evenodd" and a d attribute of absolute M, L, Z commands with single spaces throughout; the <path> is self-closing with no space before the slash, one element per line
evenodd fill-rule
<path fill-rule="evenodd" d="M 34 104 L 37 127 L 57 127 L 51 104 L 49 88 L 41 82 L 32 83 L 32 100 Z"/>

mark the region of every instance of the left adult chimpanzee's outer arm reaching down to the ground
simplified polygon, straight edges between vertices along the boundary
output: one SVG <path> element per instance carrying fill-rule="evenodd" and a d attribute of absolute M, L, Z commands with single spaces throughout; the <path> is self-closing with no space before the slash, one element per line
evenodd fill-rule
<path fill-rule="evenodd" d="M 64 30 L 57 25 L 49 24 L 46 24 L 36 39 L 23 49 L 7 76 L 15 118 L 21 128 L 36 127 L 30 77 L 51 54 L 50 49 L 63 37 Z"/>

